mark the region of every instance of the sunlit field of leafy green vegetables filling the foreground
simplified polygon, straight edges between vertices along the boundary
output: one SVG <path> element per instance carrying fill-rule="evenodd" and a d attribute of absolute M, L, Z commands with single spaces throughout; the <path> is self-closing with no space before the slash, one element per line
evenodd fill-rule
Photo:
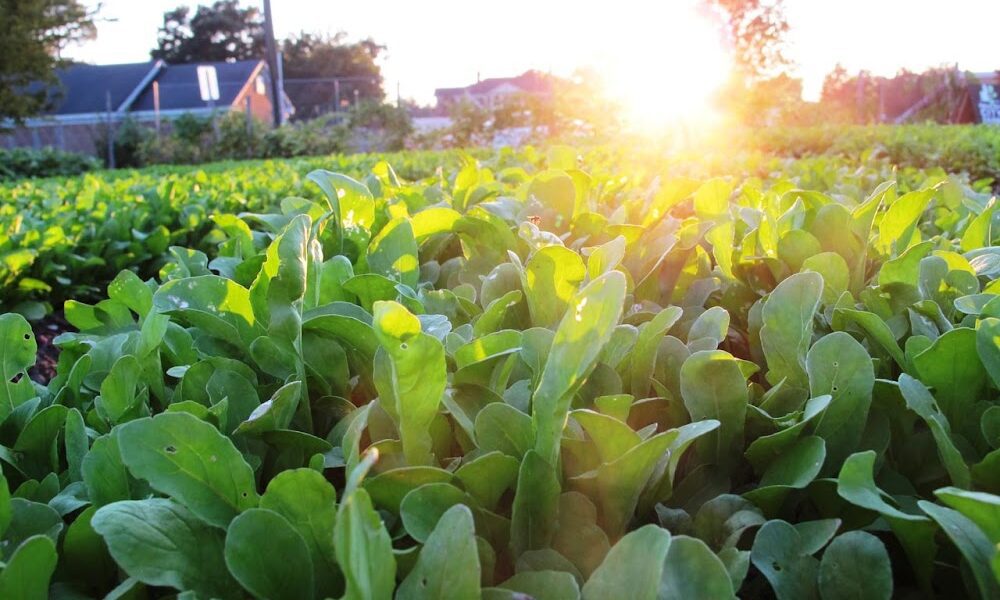
<path fill-rule="evenodd" d="M 991 183 L 555 147 L 0 188 L 0 598 L 1000 598 Z"/>

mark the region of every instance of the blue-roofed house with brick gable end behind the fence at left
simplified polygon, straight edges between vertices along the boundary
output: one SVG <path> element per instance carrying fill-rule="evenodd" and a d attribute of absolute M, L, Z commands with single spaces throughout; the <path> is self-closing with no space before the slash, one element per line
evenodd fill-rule
<path fill-rule="evenodd" d="M 215 67 L 219 99 L 201 99 L 199 66 Z M 49 91 L 52 109 L 23 126 L 0 134 L 0 147 L 51 146 L 100 154 L 96 148 L 109 120 L 131 118 L 153 125 L 185 113 L 246 111 L 272 123 L 270 72 L 263 60 L 168 65 L 162 60 L 120 65 L 71 65 L 56 72 L 59 85 Z M 283 98 L 290 113 L 291 103 Z"/>

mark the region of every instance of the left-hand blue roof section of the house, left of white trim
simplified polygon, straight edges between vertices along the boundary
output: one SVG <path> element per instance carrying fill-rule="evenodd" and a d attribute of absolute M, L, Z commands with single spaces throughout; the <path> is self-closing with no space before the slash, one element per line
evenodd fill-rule
<path fill-rule="evenodd" d="M 109 94 L 111 110 L 118 110 L 133 91 L 152 77 L 156 66 L 157 61 L 151 61 L 121 65 L 72 65 L 58 69 L 56 77 L 61 89 L 52 92 L 56 107 L 50 114 L 105 112 Z"/>

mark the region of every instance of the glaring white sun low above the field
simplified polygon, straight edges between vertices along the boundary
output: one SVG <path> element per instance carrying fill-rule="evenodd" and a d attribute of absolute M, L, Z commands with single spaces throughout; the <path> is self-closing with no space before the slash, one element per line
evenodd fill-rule
<path fill-rule="evenodd" d="M 698 4 L 650 6 L 610 37 L 615 39 L 597 70 L 629 125 L 655 130 L 718 118 L 713 99 L 730 75 L 732 57 L 718 23 Z"/>

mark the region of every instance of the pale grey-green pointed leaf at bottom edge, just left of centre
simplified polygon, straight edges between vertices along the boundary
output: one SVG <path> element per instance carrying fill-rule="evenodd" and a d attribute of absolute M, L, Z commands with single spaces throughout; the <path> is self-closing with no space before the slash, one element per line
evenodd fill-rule
<path fill-rule="evenodd" d="M 420 549 L 417 564 L 399 585 L 396 598 L 473 600 L 480 596 L 479 551 L 472 511 L 448 509 Z"/>

